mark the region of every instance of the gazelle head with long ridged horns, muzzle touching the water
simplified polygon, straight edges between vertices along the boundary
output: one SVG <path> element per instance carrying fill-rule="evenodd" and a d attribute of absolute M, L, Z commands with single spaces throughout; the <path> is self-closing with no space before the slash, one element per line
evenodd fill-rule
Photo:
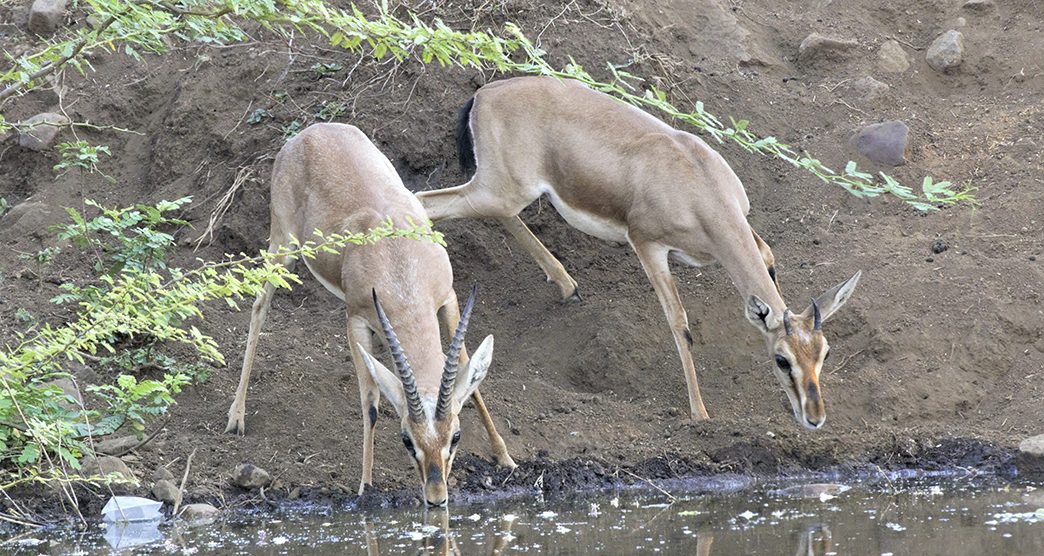
<path fill-rule="evenodd" d="M 460 406 L 485 379 L 493 360 L 493 336 L 487 336 L 471 356 L 468 366 L 458 372 L 460 348 L 468 330 L 468 317 L 475 304 L 472 288 L 465 304 L 460 321 L 446 353 L 446 366 L 437 392 L 420 392 L 413 369 L 402 350 L 387 314 L 374 292 L 374 306 L 384 336 L 395 361 L 396 372 L 358 346 L 381 393 L 388 398 L 401 419 L 402 443 L 421 476 L 421 490 L 428 506 L 445 506 L 449 492 L 446 480 L 453 466 L 457 443 L 460 441 Z"/>

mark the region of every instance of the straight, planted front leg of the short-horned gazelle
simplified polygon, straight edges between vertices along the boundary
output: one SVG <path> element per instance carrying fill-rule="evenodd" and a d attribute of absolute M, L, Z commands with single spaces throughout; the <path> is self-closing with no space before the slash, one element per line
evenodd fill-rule
<path fill-rule="evenodd" d="M 656 290 L 657 298 L 660 299 L 660 306 L 667 316 L 667 324 L 670 325 L 670 332 L 674 337 L 678 356 L 682 359 L 682 369 L 685 371 L 685 384 L 689 390 L 689 416 L 694 420 L 710 418 L 707 415 L 707 408 L 704 407 L 704 400 L 699 395 L 696 367 L 692 363 L 692 354 L 689 353 L 692 346 L 692 333 L 689 331 L 688 316 L 678 294 L 674 277 L 670 275 L 667 263 L 668 249 L 657 243 L 635 241 L 631 242 L 631 246 L 638 255 L 649 282 L 652 283 L 652 289 Z"/>

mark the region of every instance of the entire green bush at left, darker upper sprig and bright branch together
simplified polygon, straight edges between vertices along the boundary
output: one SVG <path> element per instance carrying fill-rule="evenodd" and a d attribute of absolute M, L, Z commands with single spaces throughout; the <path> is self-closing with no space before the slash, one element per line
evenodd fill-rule
<path fill-rule="evenodd" d="M 58 325 L 35 325 L 0 349 L 0 477 L 10 479 L 7 484 L 63 480 L 54 474 L 66 466 L 76 467 L 78 459 L 90 453 L 88 436 L 112 434 L 120 427 L 142 434 L 149 419 L 167 411 L 183 387 L 205 381 L 212 364 L 224 362 L 214 339 L 194 324 L 204 316 L 203 306 L 220 299 L 237 307 L 238 300 L 256 296 L 266 284 L 289 288 L 299 279 L 277 263 L 281 258 L 314 258 L 385 238 L 445 244 L 429 222 L 398 228 L 387 220 L 365 233 L 316 232 L 313 240 L 294 240 L 275 253 L 227 257 L 188 270 L 172 268 L 164 264 L 172 237 L 166 236 L 166 243 L 140 241 L 142 234 L 136 228 L 179 223 L 163 213 L 183 200 L 187 202 L 127 209 L 91 203 L 101 211 L 99 217 L 88 220 L 78 211 L 70 211 L 73 222 L 60 226 L 60 234 L 74 244 L 108 252 L 118 270 L 110 268 L 100 274 L 96 286 L 64 287 L 62 300 L 79 306 L 75 317 Z M 102 221 L 92 224 L 99 218 Z M 96 243 L 95 233 L 109 241 Z M 128 349 L 128 342 L 139 346 Z M 191 348 L 195 362 L 183 364 L 158 350 L 177 344 Z M 64 365 L 70 360 L 116 370 L 112 383 L 86 387 L 101 407 L 79 407 L 54 384 L 69 377 Z"/>

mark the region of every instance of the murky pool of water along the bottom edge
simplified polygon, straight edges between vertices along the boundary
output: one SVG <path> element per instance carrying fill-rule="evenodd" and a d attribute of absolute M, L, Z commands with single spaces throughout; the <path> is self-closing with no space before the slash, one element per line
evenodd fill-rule
<path fill-rule="evenodd" d="M 1040 487 L 1040 488 L 1038 488 Z M 673 498 L 672 498 L 673 497 Z M 137 524 L 136 524 L 137 525 Z M 511 500 L 425 512 L 234 514 L 209 524 L 35 532 L 0 552 L 96 554 L 1044 554 L 1044 485 L 897 481 Z"/>

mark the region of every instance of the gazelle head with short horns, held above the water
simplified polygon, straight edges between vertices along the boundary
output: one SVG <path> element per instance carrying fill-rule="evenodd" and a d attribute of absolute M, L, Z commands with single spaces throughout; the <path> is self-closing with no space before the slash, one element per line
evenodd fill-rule
<path fill-rule="evenodd" d="M 778 314 L 757 295 L 748 300 L 746 318 L 768 341 L 773 371 L 790 398 L 793 417 L 809 429 L 818 429 L 827 420 L 820 372 L 830 356 L 830 344 L 823 335 L 823 322 L 848 301 L 860 275 L 861 272 L 856 272 L 812 299 L 800 314 L 786 309 Z"/>

